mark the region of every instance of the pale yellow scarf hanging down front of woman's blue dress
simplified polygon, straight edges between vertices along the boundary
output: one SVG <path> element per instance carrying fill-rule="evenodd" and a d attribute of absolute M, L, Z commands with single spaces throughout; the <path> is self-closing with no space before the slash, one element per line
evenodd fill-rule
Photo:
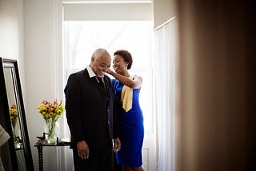
<path fill-rule="evenodd" d="M 133 76 L 129 77 L 130 79 L 133 79 Z M 128 112 L 132 106 L 133 106 L 133 89 L 123 85 L 122 92 L 121 92 L 121 102 L 122 102 L 122 108 Z"/>

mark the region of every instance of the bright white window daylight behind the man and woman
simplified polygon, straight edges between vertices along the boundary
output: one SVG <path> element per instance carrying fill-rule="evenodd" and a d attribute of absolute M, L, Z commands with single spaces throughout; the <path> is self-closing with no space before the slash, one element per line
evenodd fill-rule
<path fill-rule="evenodd" d="M 146 133 L 153 131 L 152 34 L 153 23 L 148 21 L 64 22 L 66 79 L 69 74 L 84 69 L 98 48 L 108 50 L 112 57 L 116 50 L 130 51 L 134 60 L 130 74 L 143 78 L 140 104 Z"/>

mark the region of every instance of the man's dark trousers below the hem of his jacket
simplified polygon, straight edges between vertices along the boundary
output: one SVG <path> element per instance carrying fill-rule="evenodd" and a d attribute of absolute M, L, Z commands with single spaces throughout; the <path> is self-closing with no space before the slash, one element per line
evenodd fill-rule
<path fill-rule="evenodd" d="M 112 171 L 112 150 L 105 150 L 98 153 L 90 152 L 88 159 L 78 156 L 78 149 L 73 149 L 75 171 Z"/>

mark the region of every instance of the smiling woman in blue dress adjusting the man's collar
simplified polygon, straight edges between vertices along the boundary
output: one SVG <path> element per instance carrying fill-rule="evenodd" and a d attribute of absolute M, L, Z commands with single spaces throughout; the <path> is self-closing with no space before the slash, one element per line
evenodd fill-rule
<path fill-rule="evenodd" d="M 121 150 L 116 153 L 118 165 L 124 171 L 142 171 L 142 144 L 144 139 L 144 125 L 142 109 L 139 105 L 139 93 L 142 77 L 130 75 L 133 63 L 131 54 L 127 50 L 114 52 L 113 68 L 107 73 L 114 77 L 113 85 L 118 97 L 120 117 Z"/>

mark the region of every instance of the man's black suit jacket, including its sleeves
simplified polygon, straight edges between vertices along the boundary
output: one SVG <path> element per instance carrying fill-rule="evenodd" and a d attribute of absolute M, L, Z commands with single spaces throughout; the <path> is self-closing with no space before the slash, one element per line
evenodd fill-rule
<path fill-rule="evenodd" d="M 70 127 L 71 145 L 86 141 L 90 153 L 112 149 L 112 140 L 118 137 L 118 120 L 114 117 L 115 95 L 111 79 L 104 76 L 106 90 L 88 71 L 71 74 L 64 92 L 66 118 Z"/>

